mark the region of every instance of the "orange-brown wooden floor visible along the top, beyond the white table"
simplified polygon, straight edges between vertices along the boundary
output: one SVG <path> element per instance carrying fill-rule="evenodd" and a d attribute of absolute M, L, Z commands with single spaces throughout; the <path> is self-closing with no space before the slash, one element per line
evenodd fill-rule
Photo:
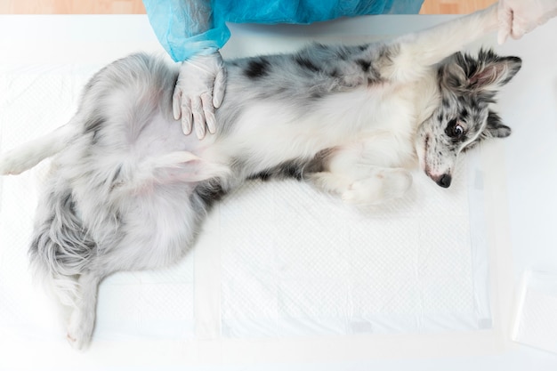
<path fill-rule="evenodd" d="M 495 2 L 496 0 L 425 0 L 420 13 L 464 14 L 485 8 Z M 145 8 L 141 0 L 0 0 L 0 14 L 141 14 L 144 12 Z"/>

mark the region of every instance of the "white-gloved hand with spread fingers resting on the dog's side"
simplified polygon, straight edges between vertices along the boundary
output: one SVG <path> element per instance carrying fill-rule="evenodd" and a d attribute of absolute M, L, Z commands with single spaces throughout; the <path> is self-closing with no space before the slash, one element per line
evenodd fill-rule
<path fill-rule="evenodd" d="M 226 70 L 220 52 L 194 55 L 182 62 L 180 75 L 173 95 L 173 111 L 176 120 L 182 117 L 182 131 L 191 133 L 195 126 L 199 139 L 206 129 L 216 132 L 214 109 L 221 106 L 226 87 Z"/>

